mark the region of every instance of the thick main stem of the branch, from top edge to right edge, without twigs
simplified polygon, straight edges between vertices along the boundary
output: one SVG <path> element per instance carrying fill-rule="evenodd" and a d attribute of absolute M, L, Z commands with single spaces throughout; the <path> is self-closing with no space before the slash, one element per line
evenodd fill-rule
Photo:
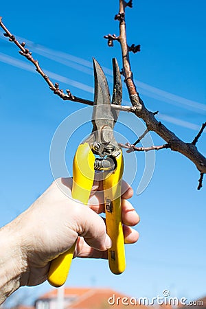
<path fill-rule="evenodd" d="M 154 113 L 148 111 L 144 105 L 144 102 L 141 100 L 139 93 L 137 92 L 135 82 L 133 80 L 133 73 L 130 67 L 129 50 L 126 40 L 125 8 L 126 2 L 124 0 L 119 0 L 119 16 L 124 16 L 124 19 L 119 20 L 118 41 L 122 49 L 122 62 L 125 77 L 124 81 L 128 89 L 130 102 L 136 107 L 135 115 L 144 120 L 148 130 L 154 131 L 162 137 L 162 139 L 170 145 L 171 150 L 180 152 L 182 155 L 190 159 L 201 173 L 206 173 L 206 159 L 200 152 L 198 152 L 196 146 L 192 143 L 185 143 L 172 131 L 161 124 L 161 122 L 158 122 Z"/>

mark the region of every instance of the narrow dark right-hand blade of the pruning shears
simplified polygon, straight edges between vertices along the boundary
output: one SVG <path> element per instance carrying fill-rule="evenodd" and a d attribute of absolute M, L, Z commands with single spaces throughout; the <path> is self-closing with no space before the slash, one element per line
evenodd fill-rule
<path fill-rule="evenodd" d="M 112 104 L 121 105 L 122 104 L 122 80 L 121 74 L 119 71 L 119 65 L 117 63 L 117 59 L 113 58 L 113 98 Z M 119 111 L 112 108 L 112 113 L 115 122 L 117 122 L 117 118 L 119 117 Z"/>

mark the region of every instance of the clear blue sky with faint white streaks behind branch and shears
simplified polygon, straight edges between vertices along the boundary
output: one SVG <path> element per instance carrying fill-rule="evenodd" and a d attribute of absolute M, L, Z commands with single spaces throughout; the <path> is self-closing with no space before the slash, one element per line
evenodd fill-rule
<path fill-rule="evenodd" d="M 121 67 L 119 45 L 108 48 L 103 36 L 118 34 L 118 1 L 35 1 L 1 3 L 3 22 L 49 71 L 52 80 L 74 95 L 93 100 L 94 56 L 111 80 L 111 58 Z M 204 0 L 134 1 L 126 12 L 128 44 L 141 45 L 131 54 L 133 73 L 146 106 L 159 110 L 158 119 L 184 141 L 192 141 L 205 122 L 205 9 Z M 44 55 L 44 56 L 43 56 Z M 1 100 L 1 216 L 0 225 L 26 209 L 52 182 L 49 148 L 59 124 L 84 107 L 62 102 L 41 76 L 0 39 Z M 56 75 L 55 75 L 56 74 Z M 82 84 L 80 84 L 82 83 Z M 109 83 L 112 87 L 111 82 Z M 124 89 L 124 104 L 128 96 Z M 119 121 L 141 126 L 133 115 Z M 117 131 L 133 142 L 134 134 L 117 124 Z M 85 134 L 89 134 L 86 126 Z M 86 133 L 86 131 L 88 132 Z M 67 165 L 84 132 L 78 130 L 67 147 Z M 154 143 L 163 144 L 155 134 Z M 206 155 L 206 135 L 198 148 Z M 205 187 L 198 192 L 199 174 L 193 163 L 171 150 L 156 154 L 155 172 L 146 190 L 132 198 L 141 222 L 139 242 L 126 247 L 127 269 L 121 276 L 107 270 L 105 261 L 75 260 L 68 286 L 106 286 L 133 297 L 155 297 L 168 288 L 171 295 L 195 299 L 206 295 Z M 128 154 L 125 152 L 127 161 Z M 144 170 L 144 154 L 137 154 L 135 191 Z M 129 165 L 128 165 L 129 168 Z M 130 166 L 132 170 L 132 166 Z M 126 174 L 130 174 L 128 169 Z M 129 177 L 129 175 L 128 175 Z M 47 283 L 25 288 L 38 295 Z M 30 297 L 32 299 L 32 297 Z"/>

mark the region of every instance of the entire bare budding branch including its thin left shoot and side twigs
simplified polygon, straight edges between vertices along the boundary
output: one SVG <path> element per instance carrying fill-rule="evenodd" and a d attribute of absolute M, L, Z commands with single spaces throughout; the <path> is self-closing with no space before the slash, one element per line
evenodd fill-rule
<path fill-rule="evenodd" d="M 127 111 L 131 113 L 135 113 L 137 117 L 141 118 L 144 120 L 147 126 L 147 130 L 149 131 L 154 131 L 162 137 L 168 145 L 168 147 L 163 147 L 163 146 L 155 146 L 156 150 L 162 149 L 162 148 L 171 148 L 171 150 L 180 152 L 182 155 L 185 155 L 188 159 L 190 159 L 195 165 L 196 168 L 201 172 L 201 174 L 206 173 L 206 159 L 205 157 L 198 152 L 196 148 L 196 142 L 198 141 L 198 138 L 201 136 L 203 133 L 203 130 L 206 126 L 206 124 L 203 124 L 200 132 L 192 143 L 185 143 L 179 137 L 176 137 L 176 135 L 170 131 L 168 128 L 166 128 L 161 122 L 159 122 L 156 118 L 155 115 L 157 112 L 152 113 L 151 111 L 148 111 L 146 106 L 144 105 L 144 102 L 141 100 L 139 93 L 137 92 L 134 80 L 133 80 L 133 73 L 130 67 L 130 59 L 129 59 L 129 52 L 130 52 L 130 47 L 128 47 L 127 40 L 126 40 L 126 23 L 125 23 L 125 8 L 132 7 L 133 1 L 124 1 L 124 0 L 119 0 L 119 13 L 115 16 L 115 19 L 119 21 L 119 36 L 116 36 L 115 34 L 111 35 L 108 34 L 106 38 L 108 41 L 111 41 L 108 43 L 108 45 L 112 46 L 113 41 L 119 41 L 122 49 L 122 62 L 123 62 L 123 75 L 125 77 L 125 82 L 126 82 L 126 87 L 128 89 L 128 94 L 130 97 L 130 102 L 132 103 L 133 106 L 117 106 L 112 104 L 112 107 L 115 109 L 119 109 L 120 111 Z M 64 93 L 62 89 L 59 89 L 58 83 L 53 83 L 49 77 L 44 73 L 43 69 L 41 69 L 40 65 L 38 64 L 37 60 L 34 60 L 32 57 L 32 53 L 29 51 L 29 49 L 25 48 L 25 43 L 19 43 L 19 41 L 16 40 L 16 38 L 9 32 L 9 30 L 3 25 L 1 17 L 0 17 L 0 26 L 3 28 L 5 31 L 5 36 L 9 38 L 9 41 L 14 42 L 14 44 L 19 47 L 20 49 L 20 54 L 22 56 L 25 56 L 27 60 L 30 60 L 30 62 L 33 63 L 33 65 L 36 67 L 36 71 L 41 74 L 41 76 L 44 78 L 44 80 L 47 82 L 49 85 L 49 89 L 51 89 L 56 95 L 58 95 L 62 100 L 70 100 L 73 102 L 80 102 L 83 104 L 89 104 L 93 105 L 93 102 L 90 100 L 84 100 L 82 98 L 78 98 L 74 95 L 71 94 L 71 92 L 67 89 L 66 92 Z M 139 51 L 139 45 L 135 47 L 135 45 L 131 45 L 132 49 L 134 51 Z M 142 137 L 143 138 L 143 137 Z M 139 142 L 139 139 L 137 140 Z M 137 144 L 137 142 L 135 144 Z M 167 145 L 165 144 L 165 145 Z M 133 145 L 135 146 L 135 145 Z M 152 149 L 144 149 L 141 148 L 142 150 L 136 150 L 136 151 L 148 151 L 148 150 L 153 150 Z"/>

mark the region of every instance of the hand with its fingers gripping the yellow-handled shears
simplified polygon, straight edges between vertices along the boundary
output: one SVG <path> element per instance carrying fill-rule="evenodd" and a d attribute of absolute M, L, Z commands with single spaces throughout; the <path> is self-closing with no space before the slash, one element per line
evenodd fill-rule
<path fill-rule="evenodd" d="M 111 240 L 106 234 L 102 183 L 95 181 L 88 206 L 71 198 L 72 179 L 57 179 L 23 214 L 3 228 L 9 229 L 16 243 L 16 269 L 20 286 L 35 286 L 47 279 L 50 262 L 71 248 L 78 238 L 74 257 L 107 258 Z M 122 183 L 122 222 L 126 243 L 134 243 L 139 222 L 127 201 L 132 188 Z M 70 196 L 70 197 L 69 197 Z"/>

